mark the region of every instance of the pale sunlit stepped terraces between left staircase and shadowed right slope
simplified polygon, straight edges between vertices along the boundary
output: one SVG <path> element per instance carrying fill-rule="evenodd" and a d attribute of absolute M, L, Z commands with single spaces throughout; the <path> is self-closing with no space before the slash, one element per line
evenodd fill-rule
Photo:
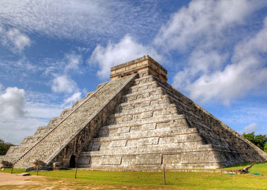
<path fill-rule="evenodd" d="M 214 168 L 232 164 L 234 159 L 225 157 L 231 152 L 225 140 L 207 127 L 191 126 L 155 76 L 144 75 L 135 82 L 109 115 L 107 125 L 100 127 L 81 152 L 78 167 Z M 189 110 L 186 115 L 198 117 Z"/>

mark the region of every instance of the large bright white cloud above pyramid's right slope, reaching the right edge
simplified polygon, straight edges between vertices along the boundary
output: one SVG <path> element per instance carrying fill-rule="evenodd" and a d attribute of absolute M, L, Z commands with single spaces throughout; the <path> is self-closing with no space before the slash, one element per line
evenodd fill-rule
<path fill-rule="evenodd" d="M 208 101 L 215 98 L 229 104 L 231 99 L 251 89 L 260 85 L 266 87 L 266 59 L 261 56 L 264 53 L 267 53 L 267 18 L 262 30 L 235 46 L 231 64 L 223 70 L 198 77 L 186 89 L 193 99 Z"/>

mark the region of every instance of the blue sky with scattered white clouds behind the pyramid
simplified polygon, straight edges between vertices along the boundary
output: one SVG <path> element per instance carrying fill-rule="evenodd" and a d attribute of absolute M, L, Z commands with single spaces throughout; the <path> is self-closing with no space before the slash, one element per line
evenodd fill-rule
<path fill-rule="evenodd" d="M 143 55 L 232 129 L 267 133 L 264 0 L 0 0 L 0 139 L 19 144 Z"/>

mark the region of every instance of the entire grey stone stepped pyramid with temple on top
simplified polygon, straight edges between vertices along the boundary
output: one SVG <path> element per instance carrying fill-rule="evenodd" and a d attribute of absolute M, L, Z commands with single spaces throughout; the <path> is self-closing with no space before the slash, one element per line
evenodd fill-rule
<path fill-rule="evenodd" d="M 2 160 L 14 167 L 219 168 L 267 154 L 167 84 L 149 56 L 111 68 L 99 84 Z"/>

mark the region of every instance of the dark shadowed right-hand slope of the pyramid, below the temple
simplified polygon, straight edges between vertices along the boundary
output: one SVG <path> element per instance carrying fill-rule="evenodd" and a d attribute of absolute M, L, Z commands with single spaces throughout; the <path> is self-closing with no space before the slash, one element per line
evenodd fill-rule
<path fill-rule="evenodd" d="M 239 151 L 245 162 L 267 161 L 267 153 L 259 147 L 244 139 L 240 134 L 201 108 L 201 106 L 198 106 L 194 101 L 184 96 L 184 94 L 174 89 L 170 84 L 160 83 L 168 91 L 168 94 L 174 97 L 174 102 L 177 104 L 180 113 L 186 115 L 192 127 L 198 127 L 201 131 L 212 130 L 217 137 L 226 141 L 230 148 Z"/>

